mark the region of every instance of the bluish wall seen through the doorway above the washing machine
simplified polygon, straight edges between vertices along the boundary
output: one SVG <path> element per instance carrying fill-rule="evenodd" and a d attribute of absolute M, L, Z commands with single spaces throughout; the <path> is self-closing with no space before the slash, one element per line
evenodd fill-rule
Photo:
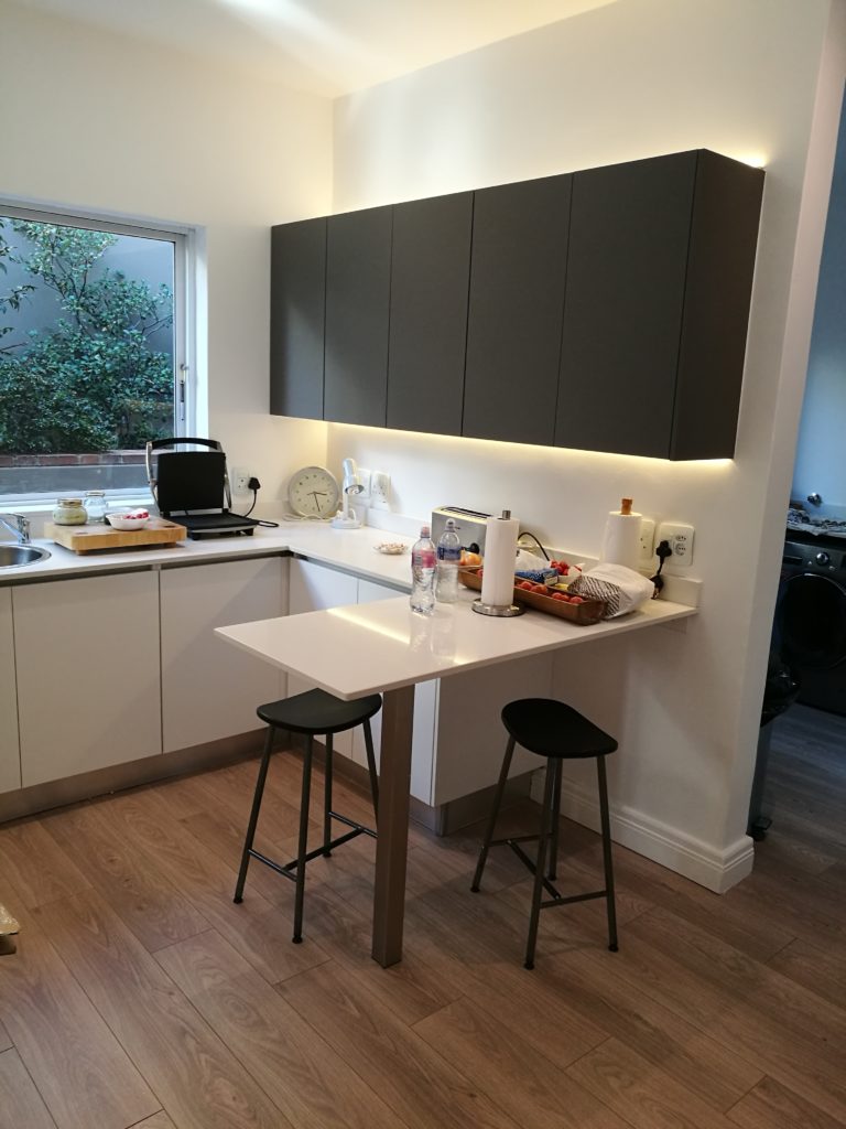
<path fill-rule="evenodd" d="M 840 117 L 826 220 L 808 382 L 799 429 L 792 497 L 822 495 L 814 516 L 846 518 L 846 113 Z"/>

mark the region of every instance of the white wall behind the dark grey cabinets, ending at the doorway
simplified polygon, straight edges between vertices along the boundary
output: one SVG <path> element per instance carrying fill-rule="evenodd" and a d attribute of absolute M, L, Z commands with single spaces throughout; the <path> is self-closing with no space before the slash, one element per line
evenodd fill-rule
<path fill-rule="evenodd" d="M 562 684 L 620 738 L 624 841 L 715 887 L 751 860 L 744 808 L 843 89 L 843 56 L 823 55 L 829 7 L 620 0 L 335 110 L 334 211 L 698 147 L 766 164 L 733 461 L 328 434 L 329 465 L 353 455 L 389 471 L 398 508 L 421 517 L 443 502 L 509 507 L 549 543 L 585 554 L 623 493 L 646 514 L 695 524 L 700 615 L 685 633 L 597 647 L 579 667 L 565 656 Z M 835 10 L 844 15 L 841 0 Z M 843 24 L 832 42 L 846 42 Z"/>

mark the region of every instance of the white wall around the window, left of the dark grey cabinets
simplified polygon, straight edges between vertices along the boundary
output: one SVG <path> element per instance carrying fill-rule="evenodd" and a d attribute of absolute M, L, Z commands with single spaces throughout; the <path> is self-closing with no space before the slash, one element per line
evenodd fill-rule
<path fill-rule="evenodd" d="M 267 414 L 268 228 L 329 210 L 331 102 L 2 0 L 0 24 L 0 196 L 202 229 L 201 434 L 282 497 L 326 428 Z"/>

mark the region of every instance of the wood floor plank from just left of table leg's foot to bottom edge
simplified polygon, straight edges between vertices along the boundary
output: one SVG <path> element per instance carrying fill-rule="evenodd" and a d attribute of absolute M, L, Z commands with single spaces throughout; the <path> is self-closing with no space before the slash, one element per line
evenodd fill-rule
<path fill-rule="evenodd" d="M 515 1129 L 474 1082 L 334 964 L 293 977 L 277 991 L 408 1129 Z"/>

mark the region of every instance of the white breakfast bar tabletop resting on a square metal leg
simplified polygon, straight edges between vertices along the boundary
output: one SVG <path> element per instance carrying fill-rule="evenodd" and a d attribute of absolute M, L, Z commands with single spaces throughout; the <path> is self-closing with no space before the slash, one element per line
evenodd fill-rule
<path fill-rule="evenodd" d="M 217 628 L 215 633 L 338 698 L 353 699 L 696 614 L 685 604 L 653 599 L 628 615 L 582 627 L 531 611 L 513 619 L 478 615 L 470 607 L 475 596 L 462 589 L 458 603 L 439 604 L 433 615 L 415 614 L 408 599 L 397 596 Z"/>

